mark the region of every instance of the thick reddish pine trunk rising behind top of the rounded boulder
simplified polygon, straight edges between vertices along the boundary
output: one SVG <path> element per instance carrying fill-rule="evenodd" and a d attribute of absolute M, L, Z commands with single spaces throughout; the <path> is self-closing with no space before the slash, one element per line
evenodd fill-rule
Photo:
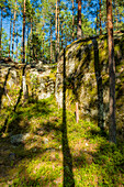
<path fill-rule="evenodd" d="M 77 38 L 81 38 L 81 0 L 78 0 L 78 28 L 77 28 Z"/>

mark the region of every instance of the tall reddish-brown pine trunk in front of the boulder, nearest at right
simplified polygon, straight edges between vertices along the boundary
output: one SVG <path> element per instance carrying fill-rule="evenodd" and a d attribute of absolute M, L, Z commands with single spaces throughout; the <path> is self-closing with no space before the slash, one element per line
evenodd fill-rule
<path fill-rule="evenodd" d="M 106 0 L 108 15 L 108 45 L 109 45 L 109 74 L 110 74 L 110 142 L 116 143 L 116 123 L 115 123 L 115 62 L 114 62 L 114 41 L 112 22 L 112 0 Z"/>

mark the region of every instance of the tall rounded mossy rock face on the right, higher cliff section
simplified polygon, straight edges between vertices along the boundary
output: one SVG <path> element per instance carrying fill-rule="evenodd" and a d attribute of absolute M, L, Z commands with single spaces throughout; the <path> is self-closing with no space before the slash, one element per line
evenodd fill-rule
<path fill-rule="evenodd" d="M 114 36 L 116 63 L 116 116 L 124 123 L 124 33 Z M 55 96 L 63 107 L 61 52 L 56 75 Z M 109 118 L 109 62 L 106 36 L 90 37 L 74 42 L 66 48 L 66 101 L 75 110 L 79 102 L 80 116 L 97 120 L 99 125 Z"/>

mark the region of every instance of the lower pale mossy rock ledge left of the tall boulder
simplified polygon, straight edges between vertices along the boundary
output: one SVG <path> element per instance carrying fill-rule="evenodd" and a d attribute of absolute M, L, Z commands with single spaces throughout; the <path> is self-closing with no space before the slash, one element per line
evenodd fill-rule
<path fill-rule="evenodd" d="M 26 65 L 23 76 L 23 64 L 12 61 L 0 62 L 0 106 L 15 106 L 22 88 L 22 79 L 25 79 L 29 96 L 32 99 L 45 99 L 55 91 L 56 65 L 38 64 Z"/>

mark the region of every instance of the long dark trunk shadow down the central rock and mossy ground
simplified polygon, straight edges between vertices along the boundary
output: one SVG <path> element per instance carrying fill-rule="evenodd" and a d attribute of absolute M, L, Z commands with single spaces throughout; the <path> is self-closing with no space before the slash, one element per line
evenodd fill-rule
<path fill-rule="evenodd" d="M 64 167 L 64 182 L 63 186 L 75 186 L 74 173 L 72 173 L 72 157 L 68 145 L 67 136 L 67 122 L 66 122 L 66 57 L 64 50 L 64 72 L 63 72 L 63 167 Z"/>

